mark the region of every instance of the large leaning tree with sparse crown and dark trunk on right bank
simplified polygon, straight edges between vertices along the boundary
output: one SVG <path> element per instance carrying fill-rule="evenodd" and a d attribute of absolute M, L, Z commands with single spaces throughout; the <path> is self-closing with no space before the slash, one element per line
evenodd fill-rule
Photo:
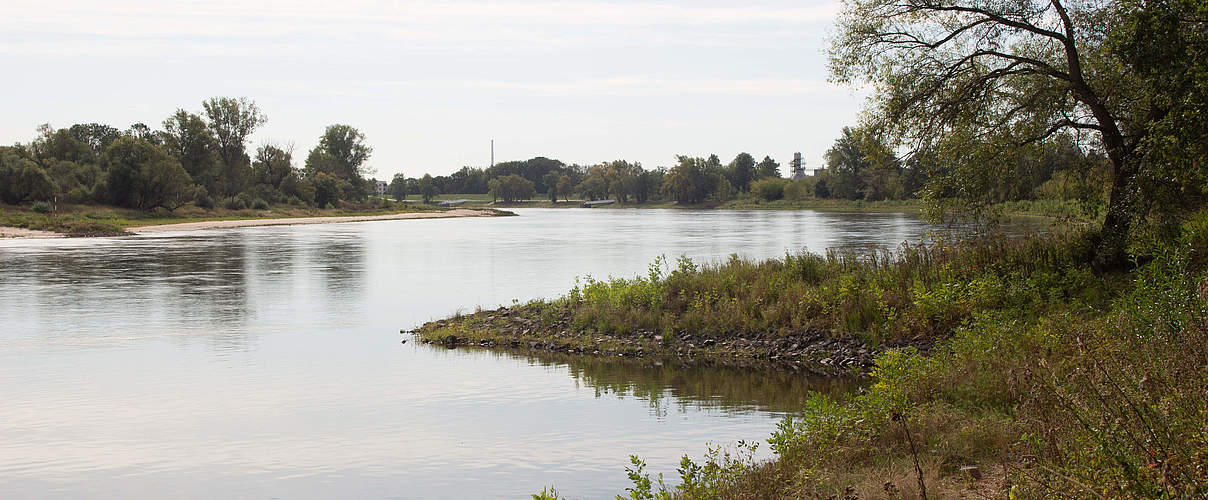
<path fill-rule="evenodd" d="M 1062 130 L 1093 139 L 1113 165 L 1094 263 L 1115 268 L 1145 207 L 1140 146 L 1171 111 L 1111 50 L 1121 16 L 1119 0 L 846 0 L 830 68 L 873 83 L 871 124 L 951 173 L 1006 165 Z"/>

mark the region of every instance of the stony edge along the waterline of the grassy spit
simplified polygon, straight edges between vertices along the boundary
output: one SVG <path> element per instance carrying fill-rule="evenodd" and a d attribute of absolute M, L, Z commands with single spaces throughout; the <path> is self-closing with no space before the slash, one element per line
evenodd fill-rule
<path fill-rule="evenodd" d="M 929 351 L 931 342 L 916 338 L 870 345 L 826 330 L 796 332 L 743 332 L 725 338 L 691 333 L 660 335 L 639 331 L 615 336 L 576 330 L 569 308 L 551 316 L 548 309 L 529 306 L 482 310 L 430 321 L 413 331 L 419 342 L 446 348 L 474 345 L 567 353 L 583 356 L 662 357 L 686 364 L 776 367 L 818 376 L 860 376 L 888 349 L 913 347 Z"/>

